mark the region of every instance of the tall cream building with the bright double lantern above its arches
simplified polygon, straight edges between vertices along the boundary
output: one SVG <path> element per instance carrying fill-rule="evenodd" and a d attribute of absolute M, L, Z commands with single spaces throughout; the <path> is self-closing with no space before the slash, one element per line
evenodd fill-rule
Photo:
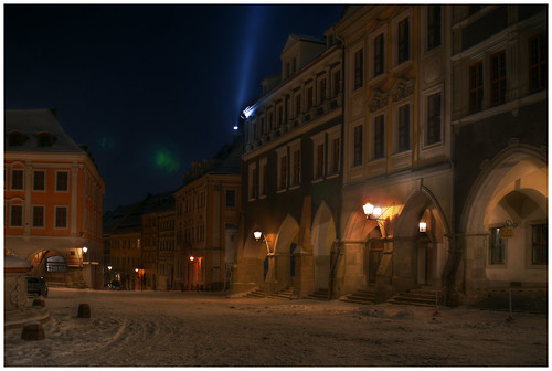
<path fill-rule="evenodd" d="M 450 7 L 347 7 L 336 294 L 440 288 L 452 237 Z M 380 216 L 362 206 L 380 206 Z M 420 222 L 426 231 L 420 232 Z"/>

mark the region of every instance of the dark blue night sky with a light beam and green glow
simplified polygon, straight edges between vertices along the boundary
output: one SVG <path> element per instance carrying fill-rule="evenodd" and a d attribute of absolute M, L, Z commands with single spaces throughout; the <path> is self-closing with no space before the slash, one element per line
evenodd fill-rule
<path fill-rule="evenodd" d="M 290 33 L 343 6 L 4 4 L 4 108 L 56 108 L 106 183 L 104 211 L 173 191 L 233 138 Z"/>

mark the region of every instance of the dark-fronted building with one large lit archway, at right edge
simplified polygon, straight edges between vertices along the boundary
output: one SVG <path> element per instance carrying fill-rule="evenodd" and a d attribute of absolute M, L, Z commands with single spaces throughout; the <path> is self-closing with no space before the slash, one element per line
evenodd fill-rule
<path fill-rule="evenodd" d="M 548 6 L 457 6 L 452 19 L 454 298 L 546 287 Z"/>

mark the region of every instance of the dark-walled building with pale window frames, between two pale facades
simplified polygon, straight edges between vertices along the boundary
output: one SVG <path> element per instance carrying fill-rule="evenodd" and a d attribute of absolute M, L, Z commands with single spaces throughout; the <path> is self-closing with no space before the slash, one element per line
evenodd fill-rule
<path fill-rule="evenodd" d="M 290 35 L 282 73 L 263 82 L 263 97 L 247 109 L 233 292 L 329 293 L 341 208 L 342 56 L 331 32 Z"/>

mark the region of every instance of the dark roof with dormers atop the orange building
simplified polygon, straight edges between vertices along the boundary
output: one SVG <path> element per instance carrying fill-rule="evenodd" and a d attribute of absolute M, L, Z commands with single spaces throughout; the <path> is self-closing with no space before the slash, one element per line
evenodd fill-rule
<path fill-rule="evenodd" d="M 63 130 L 52 109 L 6 109 L 4 151 L 85 152 Z"/>

